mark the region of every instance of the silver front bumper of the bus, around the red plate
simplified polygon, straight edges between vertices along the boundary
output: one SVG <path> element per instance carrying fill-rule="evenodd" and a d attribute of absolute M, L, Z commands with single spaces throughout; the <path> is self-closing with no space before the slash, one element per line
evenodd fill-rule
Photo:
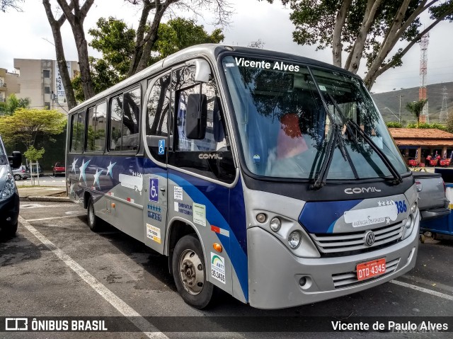
<path fill-rule="evenodd" d="M 258 309 L 282 309 L 360 292 L 403 275 L 415 266 L 419 218 L 403 241 L 336 258 L 299 258 L 268 231 L 252 227 L 247 230 L 248 301 Z M 389 265 L 383 275 L 357 280 L 357 264 L 381 258 Z"/>

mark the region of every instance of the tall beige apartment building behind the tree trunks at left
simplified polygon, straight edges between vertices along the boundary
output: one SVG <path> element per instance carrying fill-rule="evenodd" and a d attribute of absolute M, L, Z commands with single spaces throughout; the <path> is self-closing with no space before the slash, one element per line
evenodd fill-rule
<path fill-rule="evenodd" d="M 79 74 L 78 62 L 67 62 L 69 77 Z M 63 83 L 57 62 L 45 59 L 14 59 L 14 68 L 19 72 L 18 98 L 30 98 L 32 108 L 48 108 L 69 112 Z"/>

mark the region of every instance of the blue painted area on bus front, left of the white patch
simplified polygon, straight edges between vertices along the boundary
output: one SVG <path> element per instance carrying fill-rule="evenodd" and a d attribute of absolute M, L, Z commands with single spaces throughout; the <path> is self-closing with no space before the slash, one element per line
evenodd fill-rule
<path fill-rule="evenodd" d="M 299 223 L 309 233 L 333 233 L 336 221 L 363 200 L 306 202 Z"/>

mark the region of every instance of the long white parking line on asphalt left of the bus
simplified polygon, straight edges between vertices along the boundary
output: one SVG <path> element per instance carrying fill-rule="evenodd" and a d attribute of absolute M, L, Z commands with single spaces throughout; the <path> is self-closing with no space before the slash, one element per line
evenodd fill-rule
<path fill-rule="evenodd" d="M 81 277 L 85 282 L 90 285 L 91 288 L 93 288 L 98 294 L 101 295 L 105 299 L 105 301 L 108 301 L 110 305 L 115 307 L 117 311 L 120 312 L 123 316 L 131 317 L 129 320 L 134 323 L 137 328 L 143 331 L 143 333 L 148 337 L 148 338 L 156 338 L 156 339 L 168 339 L 168 337 L 157 330 L 147 319 L 143 318 L 140 316 L 140 314 L 132 309 L 131 306 L 125 303 L 125 301 L 122 301 L 119 297 L 117 297 L 113 292 L 110 291 L 107 287 L 105 287 L 101 282 L 99 282 L 93 275 L 91 275 L 87 270 L 85 270 L 81 265 L 76 263 L 69 255 L 64 253 L 62 250 L 57 248 L 52 241 L 47 239 L 45 236 L 43 236 L 40 231 L 35 229 L 35 227 L 31 226 L 30 223 L 28 223 L 23 217 L 19 216 L 19 222 L 25 227 L 25 229 L 28 229 L 36 238 L 38 238 L 39 241 L 41 241 L 47 248 L 50 249 L 59 259 L 61 259 L 66 265 L 71 268 L 74 272 L 76 272 L 79 277 Z"/>

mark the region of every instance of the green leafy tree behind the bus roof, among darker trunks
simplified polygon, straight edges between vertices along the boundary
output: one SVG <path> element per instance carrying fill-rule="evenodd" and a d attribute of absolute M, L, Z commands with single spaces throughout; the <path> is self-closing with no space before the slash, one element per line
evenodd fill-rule
<path fill-rule="evenodd" d="M 90 58 L 91 75 L 95 93 L 99 93 L 127 77 L 135 48 L 135 30 L 115 18 L 100 18 L 97 28 L 88 33 L 93 36 L 90 46 L 102 53 L 101 59 Z M 201 43 L 219 43 L 224 40 L 222 30 L 207 33 L 193 20 L 175 18 L 159 26 L 159 38 L 154 44 L 149 64 L 159 61 L 185 47 Z M 81 79 L 72 81 L 77 100 L 83 100 Z"/>

